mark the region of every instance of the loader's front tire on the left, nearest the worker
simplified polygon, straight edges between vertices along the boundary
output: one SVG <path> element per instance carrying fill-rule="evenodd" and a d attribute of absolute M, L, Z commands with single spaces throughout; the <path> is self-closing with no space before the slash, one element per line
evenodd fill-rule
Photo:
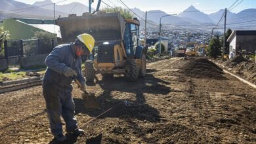
<path fill-rule="evenodd" d="M 85 78 L 87 82 L 93 82 L 95 80 L 95 69 L 93 67 L 93 61 L 85 62 Z"/>

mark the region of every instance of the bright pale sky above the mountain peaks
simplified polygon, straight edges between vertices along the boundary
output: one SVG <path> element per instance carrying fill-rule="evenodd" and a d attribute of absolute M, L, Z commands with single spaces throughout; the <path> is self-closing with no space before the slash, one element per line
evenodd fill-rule
<path fill-rule="evenodd" d="M 35 1 L 32 0 L 16 0 L 23 3 L 32 5 Z M 43 0 L 37 0 L 43 1 Z M 89 0 L 51 0 L 56 5 L 64 5 L 72 2 L 83 3 L 88 6 Z M 63 2 L 60 2 L 63 1 Z M 96 9 L 98 0 L 94 0 L 92 7 Z M 193 5 L 196 9 L 201 10 L 206 14 L 216 12 L 220 9 L 229 8 L 233 3 L 236 4 L 231 8 L 231 11 L 238 13 L 244 9 L 256 9 L 256 0 L 102 0 L 111 7 L 123 7 L 121 1 L 127 5 L 129 8 L 138 8 L 142 11 L 146 10 L 162 10 L 168 14 L 179 13 L 186 8 Z M 58 3 L 59 2 L 59 3 Z M 241 2 L 241 3 L 240 3 Z M 106 4 L 101 3 L 101 7 L 108 7 Z M 240 4 L 239 4 L 240 3 Z M 237 5 L 237 6 L 236 6 Z"/>

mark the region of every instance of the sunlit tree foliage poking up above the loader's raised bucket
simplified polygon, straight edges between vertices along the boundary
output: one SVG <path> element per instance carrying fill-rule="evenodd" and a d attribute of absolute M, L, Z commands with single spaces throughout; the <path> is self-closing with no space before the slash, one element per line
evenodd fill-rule
<path fill-rule="evenodd" d="M 125 19 L 133 18 L 133 14 L 129 10 L 123 9 L 122 7 L 114 7 L 114 9 L 106 7 L 102 10 L 105 10 L 106 12 L 120 12 L 121 16 L 123 16 Z"/>

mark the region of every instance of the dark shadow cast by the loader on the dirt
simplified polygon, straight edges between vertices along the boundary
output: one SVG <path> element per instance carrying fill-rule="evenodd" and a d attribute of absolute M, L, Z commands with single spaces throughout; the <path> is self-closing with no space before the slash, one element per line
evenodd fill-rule
<path fill-rule="evenodd" d="M 102 94 L 97 97 L 97 101 L 100 103 L 100 109 L 85 109 L 83 99 L 74 99 L 75 113 L 86 113 L 91 117 L 96 117 L 114 107 L 111 111 L 98 118 L 129 117 L 158 122 L 160 120 L 159 112 L 154 107 L 145 103 L 144 94 L 166 95 L 171 92 L 171 89 L 165 86 L 165 84 L 170 84 L 169 82 L 158 79 L 151 74 L 151 72 L 155 71 L 156 69 L 147 69 L 148 74 L 146 77 L 139 79 L 137 82 L 126 82 L 123 77 L 96 79 L 96 84 L 99 84 L 103 90 Z M 114 99 L 112 98 L 112 92 L 129 93 L 135 95 L 136 98 L 133 101 Z M 118 93 L 118 96 L 122 97 L 120 93 Z"/>

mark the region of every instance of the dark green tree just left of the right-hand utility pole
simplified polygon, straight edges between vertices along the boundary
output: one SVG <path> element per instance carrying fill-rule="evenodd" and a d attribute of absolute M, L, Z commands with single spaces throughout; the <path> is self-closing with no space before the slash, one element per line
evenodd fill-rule
<path fill-rule="evenodd" d="M 219 35 L 209 42 L 208 52 L 209 56 L 213 58 L 217 58 L 217 56 L 221 55 L 221 41 L 219 40 Z"/>

